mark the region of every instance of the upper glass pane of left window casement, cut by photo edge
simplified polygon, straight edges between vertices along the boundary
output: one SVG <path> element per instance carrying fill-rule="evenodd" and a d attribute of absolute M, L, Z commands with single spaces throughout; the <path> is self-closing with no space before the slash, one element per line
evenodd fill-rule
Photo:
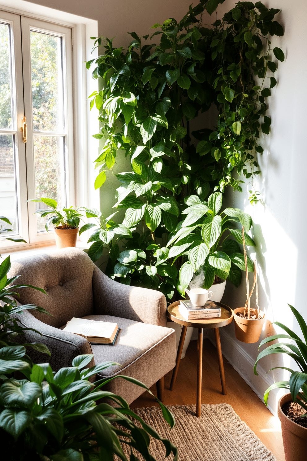
<path fill-rule="evenodd" d="M 12 129 L 10 30 L 0 23 L 0 128 Z"/>

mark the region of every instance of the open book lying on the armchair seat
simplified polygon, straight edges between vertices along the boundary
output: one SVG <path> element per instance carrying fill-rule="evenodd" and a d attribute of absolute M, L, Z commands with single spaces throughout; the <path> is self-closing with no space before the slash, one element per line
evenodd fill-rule
<path fill-rule="evenodd" d="M 119 327 L 117 323 L 100 320 L 77 319 L 67 322 L 63 331 L 87 338 L 93 344 L 114 344 Z"/>

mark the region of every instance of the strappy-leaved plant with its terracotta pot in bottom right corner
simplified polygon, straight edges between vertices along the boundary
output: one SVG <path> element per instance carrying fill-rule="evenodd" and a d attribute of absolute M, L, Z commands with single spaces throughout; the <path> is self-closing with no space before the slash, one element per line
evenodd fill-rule
<path fill-rule="evenodd" d="M 305 461 L 307 453 L 307 325 L 301 314 L 290 304 L 289 307 L 301 327 L 303 339 L 286 325 L 273 322 L 282 328 L 286 334 L 277 334 L 263 339 L 259 348 L 277 339 L 286 339 L 290 342 L 270 344 L 266 349 L 263 349 L 255 362 L 254 372 L 258 374 L 257 363 L 267 355 L 286 354 L 295 360 L 300 371 L 294 371 L 284 366 L 271 368 L 271 370 L 275 368 L 287 370 L 291 376 L 289 381 L 278 381 L 272 384 L 264 394 L 264 402 L 267 406 L 268 395 L 272 389 L 290 390 L 290 394 L 284 395 L 278 402 L 278 418 L 281 422 L 285 459 L 286 461 Z"/>

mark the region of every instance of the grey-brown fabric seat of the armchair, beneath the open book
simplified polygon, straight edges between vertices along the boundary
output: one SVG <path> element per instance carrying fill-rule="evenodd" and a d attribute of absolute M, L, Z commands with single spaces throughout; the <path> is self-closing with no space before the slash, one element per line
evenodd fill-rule
<path fill-rule="evenodd" d="M 151 387 L 175 366 L 176 337 L 172 328 L 148 325 L 111 315 L 87 315 L 84 319 L 116 322 L 120 331 L 114 345 L 92 344 L 95 363 L 117 362 L 97 374 L 96 379 L 123 374 Z M 62 329 L 64 328 L 61 327 Z M 103 388 L 133 402 L 141 391 L 135 384 L 114 379 Z"/>

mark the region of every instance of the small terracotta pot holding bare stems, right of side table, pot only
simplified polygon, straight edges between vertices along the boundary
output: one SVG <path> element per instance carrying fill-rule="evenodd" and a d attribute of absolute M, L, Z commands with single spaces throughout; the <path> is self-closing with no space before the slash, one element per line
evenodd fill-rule
<path fill-rule="evenodd" d="M 237 313 L 244 312 L 244 307 L 237 307 L 233 311 L 233 319 L 235 321 L 235 334 L 236 338 L 242 343 L 257 343 L 261 335 L 261 330 L 266 322 L 266 315 L 260 311 L 262 319 L 243 319 L 236 315 Z M 255 313 L 255 309 L 250 309 L 250 312 Z"/>

